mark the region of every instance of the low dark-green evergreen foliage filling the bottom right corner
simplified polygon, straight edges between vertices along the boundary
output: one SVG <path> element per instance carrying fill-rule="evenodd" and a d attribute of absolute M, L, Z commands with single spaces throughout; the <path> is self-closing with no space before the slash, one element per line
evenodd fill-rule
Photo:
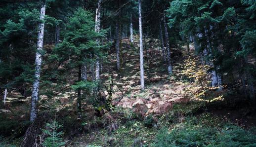
<path fill-rule="evenodd" d="M 193 121 L 193 118 L 189 119 Z M 255 145 L 255 134 L 238 126 L 226 124 L 221 128 L 215 128 L 207 124 L 198 124 L 198 121 L 193 124 L 187 120 L 171 129 L 171 132 L 167 128 L 162 128 L 156 136 L 153 147 L 254 147 Z"/>

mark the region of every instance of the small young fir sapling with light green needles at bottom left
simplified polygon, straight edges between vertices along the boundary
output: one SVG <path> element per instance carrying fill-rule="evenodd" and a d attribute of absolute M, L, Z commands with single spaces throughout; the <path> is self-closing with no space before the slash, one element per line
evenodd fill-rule
<path fill-rule="evenodd" d="M 56 119 L 51 123 L 46 123 L 43 133 L 45 133 L 47 137 L 44 139 L 43 147 L 61 147 L 65 145 L 65 142 L 63 142 L 61 138 L 63 131 L 59 131 L 61 128 L 62 125 L 60 125 Z"/>

